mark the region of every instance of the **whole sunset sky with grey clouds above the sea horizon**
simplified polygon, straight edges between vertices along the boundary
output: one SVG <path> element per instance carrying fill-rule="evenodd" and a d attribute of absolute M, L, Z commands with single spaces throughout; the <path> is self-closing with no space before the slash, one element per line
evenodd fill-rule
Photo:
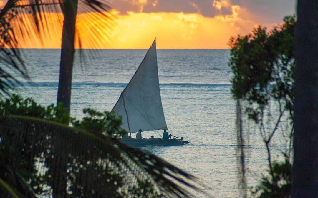
<path fill-rule="evenodd" d="M 229 49 L 227 43 L 232 36 L 246 35 L 258 25 L 272 29 L 282 23 L 284 16 L 295 14 L 296 0 L 109 0 L 109 3 L 115 16 L 114 25 L 98 48 L 148 49 L 156 38 L 158 49 Z M 44 46 L 30 41 L 22 47 L 60 48 L 58 40 L 45 42 Z"/>

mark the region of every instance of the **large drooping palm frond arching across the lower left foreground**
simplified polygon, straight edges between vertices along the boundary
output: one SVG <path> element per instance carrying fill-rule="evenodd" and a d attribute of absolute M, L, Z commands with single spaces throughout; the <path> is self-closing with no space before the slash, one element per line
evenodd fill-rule
<path fill-rule="evenodd" d="M 5 150 L 5 142 L 15 151 Z M 0 153 L 14 152 L 7 157 L 20 162 L 11 169 L 25 170 L 19 174 L 37 195 L 189 197 L 182 186 L 198 190 L 194 176 L 155 155 L 112 137 L 39 118 L 0 118 L 0 146 Z"/>

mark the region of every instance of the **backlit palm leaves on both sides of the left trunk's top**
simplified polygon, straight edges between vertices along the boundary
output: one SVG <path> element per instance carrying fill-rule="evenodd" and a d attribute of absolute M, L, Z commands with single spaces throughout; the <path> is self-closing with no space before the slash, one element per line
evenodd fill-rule
<path fill-rule="evenodd" d="M 10 0 L 0 12 L 0 18 L 14 19 L 10 25 L 12 36 L 18 36 L 14 45 L 40 39 L 60 40 L 64 1 L 61 0 Z M 74 48 L 100 48 L 109 39 L 114 15 L 104 0 L 79 0 Z M 14 25 L 12 25 L 14 24 Z M 54 31 L 52 33 L 52 31 Z M 85 41 L 82 35 L 87 35 Z"/>

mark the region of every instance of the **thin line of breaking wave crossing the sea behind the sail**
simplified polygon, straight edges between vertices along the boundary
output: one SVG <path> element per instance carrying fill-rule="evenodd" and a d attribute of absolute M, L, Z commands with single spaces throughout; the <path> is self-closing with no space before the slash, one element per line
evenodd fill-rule
<path fill-rule="evenodd" d="M 22 82 L 22 86 L 58 86 L 59 82 Z M 73 86 L 127 86 L 121 82 L 73 82 Z M 160 86 L 232 86 L 230 83 L 159 83 Z"/>

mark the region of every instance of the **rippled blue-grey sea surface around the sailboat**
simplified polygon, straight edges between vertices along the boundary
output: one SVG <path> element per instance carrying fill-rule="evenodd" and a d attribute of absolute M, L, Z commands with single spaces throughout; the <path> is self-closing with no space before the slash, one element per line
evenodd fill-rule
<path fill-rule="evenodd" d="M 147 50 L 90 50 L 85 61 L 75 62 L 71 114 L 82 109 L 110 111 Z M 59 79 L 58 49 L 23 51 L 32 78 L 18 87 L 24 97 L 42 105 L 56 103 Z M 163 111 L 169 131 L 190 142 L 183 146 L 146 146 L 147 150 L 197 176 L 212 197 L 239 197 L 236 106 L 231 95 L 229 50 L 157 50 Z M 266 174 L 267 153 L 258 128 L 249 124 L 246 143 L 248 186 Z M 162 131 L 143 132 L 159 138 Z M 285 149 L 284 137 L 272 143 L 274 154 Z M 205 197 L 196 194 L 197 197 Z"/>

